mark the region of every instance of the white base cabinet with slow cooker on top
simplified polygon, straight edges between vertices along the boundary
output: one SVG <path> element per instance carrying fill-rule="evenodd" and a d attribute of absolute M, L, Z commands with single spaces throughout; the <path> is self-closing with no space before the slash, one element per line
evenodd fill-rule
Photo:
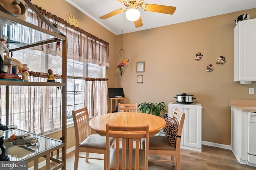
<path fill-rule="evenodd" d="M 169 103 L 169 116 L 172 117 L 177 108 L 185 113 L 182 130 L 181 148 L 202 151 L 202 106 L 199 103 L 179 104 Z"/>

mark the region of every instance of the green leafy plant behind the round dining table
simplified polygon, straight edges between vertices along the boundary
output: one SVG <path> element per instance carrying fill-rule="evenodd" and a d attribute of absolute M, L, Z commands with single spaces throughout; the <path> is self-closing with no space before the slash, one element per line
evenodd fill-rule
<path fill-rule="evenodd" d="M 142 113 L 148 113 L 152 115 L 156 115 L 161 117 L 160 112 L 166 111 L 166 104 L 164 102 L 160 103 L 149 103 L 149 102 L 144 102 L 138 105 L 139 111 L 142 111 Z"/>

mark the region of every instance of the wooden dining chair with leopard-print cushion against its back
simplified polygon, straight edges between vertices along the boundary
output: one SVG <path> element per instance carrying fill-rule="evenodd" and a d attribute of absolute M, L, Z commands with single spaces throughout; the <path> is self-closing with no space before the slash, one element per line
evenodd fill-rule
<path fill-rule="evenodd" d="M 168 161 L 172 162 L 172 166 L 175 166 L 176 162 L 177 170 L 181 170 L 181 161 L 180 161 L 180 138 L 182 133 L 182 128 L 185 119 L 185 113 L 182 113 L 178 109 L 175 109 L 173 117 L 166 117 L 165 120 L 169 118 L 169 121 L 166 121 L 166 131 L 172 133 L 175 131 L 173 138 L 170 136 L 154 136 L 149 138 L 148 145 L 148 154 L 152 155 L 166 155 L 170 156 L 170 160 L 160 160 L 160 159 L 149 159 L 152 161 Z M 176 127 L 176 128 L 174 128 Z M 176 129 L 176 130 L 175 130 Z M 173 134 L 172 134 L 173 135 Z M 142 148 L 144 148 L 145 142 L 142 140 Z"/>

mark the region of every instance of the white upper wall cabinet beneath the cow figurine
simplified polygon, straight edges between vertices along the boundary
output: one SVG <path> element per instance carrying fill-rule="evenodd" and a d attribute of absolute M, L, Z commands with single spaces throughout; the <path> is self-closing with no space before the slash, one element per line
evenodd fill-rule
<path fill-rule="evenodd" d="M 234 28 L 234 82 L 256 81 L 256 19 L 239 21 Z"/>

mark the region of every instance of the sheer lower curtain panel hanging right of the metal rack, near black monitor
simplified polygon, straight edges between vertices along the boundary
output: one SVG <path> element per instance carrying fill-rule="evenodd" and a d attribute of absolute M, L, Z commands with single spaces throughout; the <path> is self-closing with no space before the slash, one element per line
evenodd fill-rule
<path fill-rule="evenodd" d="M 84 100 L 90 117 L 106 114 L 108 112 L 106 78 L 86 78 L 84 89 Z"/>

